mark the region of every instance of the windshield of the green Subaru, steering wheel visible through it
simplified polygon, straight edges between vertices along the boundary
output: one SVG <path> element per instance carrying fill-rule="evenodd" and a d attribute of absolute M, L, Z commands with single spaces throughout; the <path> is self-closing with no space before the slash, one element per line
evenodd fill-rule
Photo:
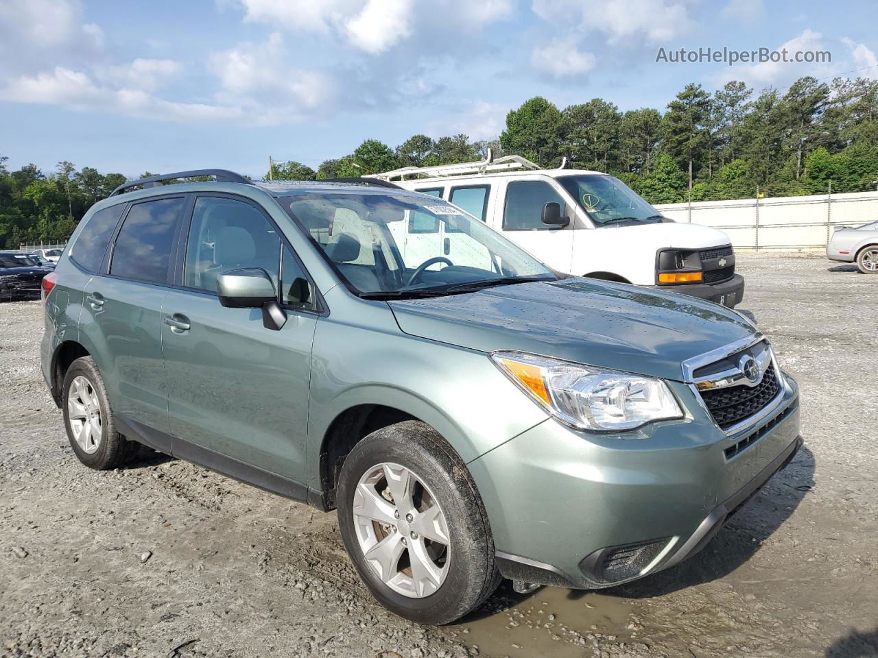
<path fill-rule="evenodd" d="M 418 297 L 489 282 L 555 279 L 542 263 L 441 199 L 307 192 L 278 201 L 357 294 Z"/>

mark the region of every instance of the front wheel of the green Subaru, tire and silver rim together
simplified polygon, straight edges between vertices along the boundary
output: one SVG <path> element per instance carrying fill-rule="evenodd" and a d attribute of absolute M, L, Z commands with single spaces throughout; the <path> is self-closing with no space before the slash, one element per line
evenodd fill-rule
<path fill-rule="evenodd" d="M 430 426 L 388 426 L 342 467 L 338 519 L 350 560 L 386 608 L 421 624 L 463 617 L 500 583 L 485 507 Z"/>

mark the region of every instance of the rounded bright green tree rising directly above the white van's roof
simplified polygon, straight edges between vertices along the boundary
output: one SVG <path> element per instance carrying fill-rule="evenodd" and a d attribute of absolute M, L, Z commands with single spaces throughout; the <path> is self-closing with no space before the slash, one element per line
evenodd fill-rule
<path fill-rule="evenodd" d="M 500 146 L 507 153 L 551 164 L 558 161 L 560 143 L 561 112 L 545 98 L 533 97 L 506 115 Z"/>

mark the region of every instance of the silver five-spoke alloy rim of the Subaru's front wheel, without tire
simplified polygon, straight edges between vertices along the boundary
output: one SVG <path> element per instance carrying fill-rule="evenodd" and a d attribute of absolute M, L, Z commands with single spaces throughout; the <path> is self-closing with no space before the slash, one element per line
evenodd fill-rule
<path fill-rule="evenodd" d="M 356 539 L 366 563 L 391 590 L 428 597 L 449 570 L 448 524 L 435 496 L 411 470 L 381 463 L 356 485 Z"/>

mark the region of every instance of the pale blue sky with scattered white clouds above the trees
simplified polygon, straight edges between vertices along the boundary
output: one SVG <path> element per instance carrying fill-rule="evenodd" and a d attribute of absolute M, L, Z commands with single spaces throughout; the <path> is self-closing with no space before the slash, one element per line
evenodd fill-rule
<path fill-rule="evenodd" d="M 316 168 L 365 138 L 495 137 L 537 94 L 629 110 L 687 82 L 878 77 L 874 18 L 874 0 L 0 0 L 0 154 L 126 175 Z M 656 62 L 708 46 L 831 63 Z"/>

